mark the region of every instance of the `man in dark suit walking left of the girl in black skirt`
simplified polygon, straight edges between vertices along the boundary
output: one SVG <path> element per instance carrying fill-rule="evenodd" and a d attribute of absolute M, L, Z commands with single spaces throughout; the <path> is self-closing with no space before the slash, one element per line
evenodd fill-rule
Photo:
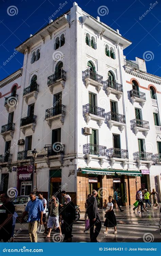
<path fill-rule="evenodd" d="M 88 217 L 89 217 L 89 226 L 90 226 L 90 239 L 91 242 L 97 242 L 97 236 L 101 230 L 101 221 L 98 211 L 98 204 L 96 200 L 97 191 L 92 190 L 92 196 L 88 198 Z M 95 232 L 94 232 L 95 225 Z"/>

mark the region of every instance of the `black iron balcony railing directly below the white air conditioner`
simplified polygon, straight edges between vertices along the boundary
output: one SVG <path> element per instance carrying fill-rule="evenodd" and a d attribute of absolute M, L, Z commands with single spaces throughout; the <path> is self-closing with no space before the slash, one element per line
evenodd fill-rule
<path fill-rule="evenodd" d="M 106 147 L 88 143 L 83 145 L 83 154 L 106 156 Z"/>

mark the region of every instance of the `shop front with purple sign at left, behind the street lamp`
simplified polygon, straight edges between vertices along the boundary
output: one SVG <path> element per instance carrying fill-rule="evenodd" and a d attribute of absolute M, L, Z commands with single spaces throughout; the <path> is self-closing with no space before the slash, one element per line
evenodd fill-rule
<path fill-rule="evenodd" d="M 32 191 L 33 185 L 33 166 L 17 167 L 17 190 L 18 195 L 28 196 Z"/>

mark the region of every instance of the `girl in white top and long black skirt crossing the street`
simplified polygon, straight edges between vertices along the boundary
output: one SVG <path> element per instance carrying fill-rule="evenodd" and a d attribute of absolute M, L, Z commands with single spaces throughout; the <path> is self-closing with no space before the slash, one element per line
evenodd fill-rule
<path fill-rule="evenodd" d="M 114 214 L 114 211 L 113 211 L 113 203 L 112 203 L 112 197 L 109 196 L 108 198 L 108 203 L 107 203 L 107 211 L 106 211 L 106 220 L 105 220 L 105 223 L 104 223 L 104 226 L 106 227 L 106 231 L 104 232 L 104 234 L 107 235 L 108 233 L 108 228 L 112 228 L 114 227 L 114 232 L 113 234 L 117 234 L 117 229 L 116 229 L 116 225 L 117 225 L 117 222 L 116 222 L 116 217 L 115 217 L 115 214 Z"/>

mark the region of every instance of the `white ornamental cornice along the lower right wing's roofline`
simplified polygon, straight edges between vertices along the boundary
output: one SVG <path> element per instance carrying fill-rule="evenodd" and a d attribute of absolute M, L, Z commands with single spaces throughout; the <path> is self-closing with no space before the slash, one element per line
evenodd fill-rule
<path fill-rule="evenodd" d="M 146 72 L 141 71 L 141 70 L 131 69 L 126 65 L 125 65 L 125 72 L 130 74 L 130 75 L 133 75 L 133 76 L 139 77 L 141 79 L 147 80 L 151 83 L 161 84 L 161 77 L 160 76 L 149 74 L 149 73 L 146 73 Z"/>

